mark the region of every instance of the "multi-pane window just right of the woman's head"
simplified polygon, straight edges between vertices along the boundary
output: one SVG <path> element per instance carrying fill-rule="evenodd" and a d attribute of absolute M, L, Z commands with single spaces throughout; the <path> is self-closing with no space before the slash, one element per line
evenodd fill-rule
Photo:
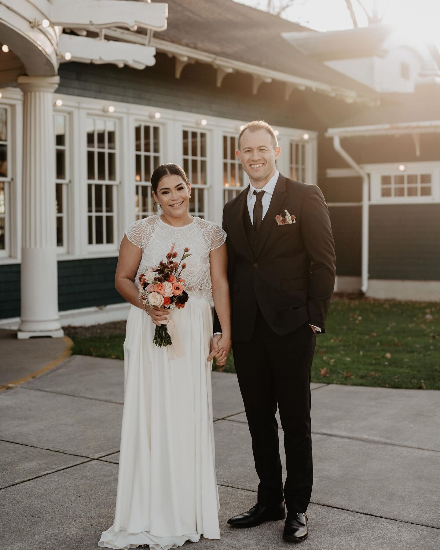
<path fill-rule="evenodd" d="M 189 211 L 206 217 L 207 204 L 207 134 L 199 130 L 183 130 L 183 169 L 191 182 Z"/>

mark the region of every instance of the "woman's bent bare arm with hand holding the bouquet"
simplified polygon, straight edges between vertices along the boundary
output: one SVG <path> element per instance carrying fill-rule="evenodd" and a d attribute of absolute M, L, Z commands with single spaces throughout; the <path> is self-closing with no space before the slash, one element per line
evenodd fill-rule
<path fill-rule="evenodd" d="M 138 299 L 138 287 L 133 282 L 141 257 L 142 249 L 130 243 L 124 235 L 119 247 L 118 265 L 114 275 L 114 288 L 131 305 L 140 307 L 141 310 L 146 311 L 151 316 L 153 323 L 160 324 L 159 321 L 167 318 L 169 312 L 160 308 L 153 309 L 141 304 Z"/>

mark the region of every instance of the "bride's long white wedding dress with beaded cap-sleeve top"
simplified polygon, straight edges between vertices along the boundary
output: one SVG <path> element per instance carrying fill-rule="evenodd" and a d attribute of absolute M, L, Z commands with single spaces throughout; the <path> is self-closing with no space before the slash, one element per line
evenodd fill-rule
<path fill-rule="evenodd" d="M 200 535 L 220 538 L 212 363 L 206 357 L 213 334 L 209 254 L 226 233 L 197 217 L 177 228 L 150 216 L 124 234 L 142 248 L 136 285 L 140 273 L 165 260 L 173 243 L 179 258 L 190 248 L 182 274 L 189 300 L 171 312 L 184 347 L 178 358 L 173 345 L 153 344 L 156 325 L 145 311 L 130 307 L 116 511 L 98 546 L 167 550 L 197 542 Z"/>

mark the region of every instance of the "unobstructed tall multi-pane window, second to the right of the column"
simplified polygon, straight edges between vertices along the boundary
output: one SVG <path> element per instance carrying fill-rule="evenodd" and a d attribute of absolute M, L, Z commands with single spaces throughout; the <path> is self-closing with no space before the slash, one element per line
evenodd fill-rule
<path fill-rule="evenodd" d="M 87 204 L 90 245 L 114 243 L 116 152 L 116 120 L 87 118 Z"/>

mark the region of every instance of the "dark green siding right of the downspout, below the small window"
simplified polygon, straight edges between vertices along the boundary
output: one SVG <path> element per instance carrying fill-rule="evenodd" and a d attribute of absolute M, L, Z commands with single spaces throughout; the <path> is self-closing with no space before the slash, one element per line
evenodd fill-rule
<path fill-rule="evenodd" d="M 440 204 L 370 207 L 370 279 L 440 280 Z"/>

